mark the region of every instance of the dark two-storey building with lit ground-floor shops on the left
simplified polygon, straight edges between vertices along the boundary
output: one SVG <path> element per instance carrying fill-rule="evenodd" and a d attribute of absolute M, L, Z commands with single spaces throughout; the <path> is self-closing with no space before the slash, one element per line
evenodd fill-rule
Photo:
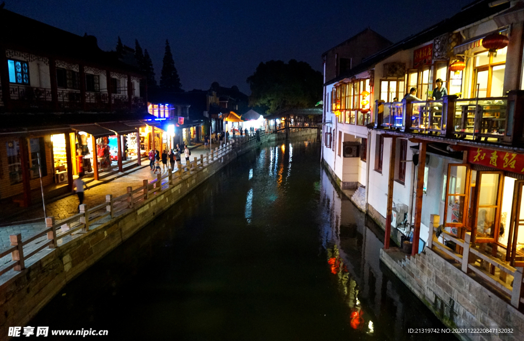
<path fill-rule="evenodd" d="M 139 163 L 133 142 L 150 117 L 138 69 L 93 36 L 6 9 L 0 21 L 17 27 L 0 39 L 0 197 L 28 206 L 40 172 L 52 196 L 68 192 L 80 172 L 98 179 Z"/>

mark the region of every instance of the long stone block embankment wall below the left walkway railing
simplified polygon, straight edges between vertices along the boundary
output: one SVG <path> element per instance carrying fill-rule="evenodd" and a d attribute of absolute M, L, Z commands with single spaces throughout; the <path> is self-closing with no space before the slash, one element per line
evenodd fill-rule
<path fill-rule="evenodd" d="M 266 141 L 266 136 L 261 140 Z M 138 203 L 133 210 L 86 233 L 75 234 L 67 243 L 60 240 L 57 248 L 42 250 L 27 259 L 24 270 L 16 272 L 13 277 L 0 284 L 0 339 L 7 338 L 9 326 L 25 326 L 65 284 L 168 210 L 226 164 L 259 145 L 260 142 L 253 140 L 238 146 L 225 155 L 222 162 L 215 160 L 208 167 L 194 171 L 190 177 L 177 180 L 161 194 Z"/>

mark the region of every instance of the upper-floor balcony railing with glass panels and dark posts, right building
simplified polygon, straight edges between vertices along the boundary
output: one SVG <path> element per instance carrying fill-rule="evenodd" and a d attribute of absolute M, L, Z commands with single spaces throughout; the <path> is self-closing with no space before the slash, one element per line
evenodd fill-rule
<path fill-rule="evenodd" d="M 473 141 L 522 141 L 522 95 L 457 99 L 444 96 L 440 101 L 410 101 L 375 105 L 375 126 L 409 133 L 442 135 Z"/>

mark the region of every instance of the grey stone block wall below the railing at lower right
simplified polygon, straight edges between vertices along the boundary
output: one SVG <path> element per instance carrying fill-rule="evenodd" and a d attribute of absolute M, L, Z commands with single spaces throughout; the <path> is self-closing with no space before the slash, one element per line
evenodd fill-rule
<path fill-rule="evenodd" d="M 461 340 L 522 340 L 524 314 L 431 249 L 399 259 L 396 248 L 380 259 L 449 328 L 513 328 L 513 334 L 456 334 Z"/>

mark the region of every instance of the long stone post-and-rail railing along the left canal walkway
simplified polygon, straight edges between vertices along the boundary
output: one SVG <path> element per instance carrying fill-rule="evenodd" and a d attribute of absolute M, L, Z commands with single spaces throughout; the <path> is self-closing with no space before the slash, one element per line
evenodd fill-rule
<path fill-rule="evenodd" d="M 264 131 L 260 130 L 260 137 L 264 136 Z M 38 252 L 48 248 L 54 249 L 69 241 L 73 240 L 73 234 L 82 234 L 89 231 L 94 225 L 101 225 L 110 222 L 112 219 L 133 210 L 133 208 L 148 199 L 168 190 L 195 174 L 196 171 L 208 167 L 213 162 L 221 160 L 225 155 L 238 149 L 249 142 L 255 140 L 256 135 L 233 139 L 227 144 L 216 147 L 211 153 L 206 151 L 205 155 L 201 154 L 200 158 L 194 157 L 193 161 L 184 167 L 179 166 L 175 171 L 168 174 L 157 174 L 157 178 L 148 181 L 143 180 L 143 185 L 133 189 L 127 188 L 123 195 L 113 197 L 112 194 L 105 196 L 105 203 L 88 207 L 86 204 L 80 205 L 80 213 L 69 218 L 56 222 L 54 217 L 46 218 L 46 228 L 41 232 L 22 240 L 21 234 L 10 235 L 9 241 L 11 246 L 0 251 L 0 259 L 11 254 L 11 260 L 4 265 L 0 265 L 0 276 L 13 269 L 21 271 L 25 269 L 25 261 Z M 42 243 L 43 244 L 40 244 Z"/>

